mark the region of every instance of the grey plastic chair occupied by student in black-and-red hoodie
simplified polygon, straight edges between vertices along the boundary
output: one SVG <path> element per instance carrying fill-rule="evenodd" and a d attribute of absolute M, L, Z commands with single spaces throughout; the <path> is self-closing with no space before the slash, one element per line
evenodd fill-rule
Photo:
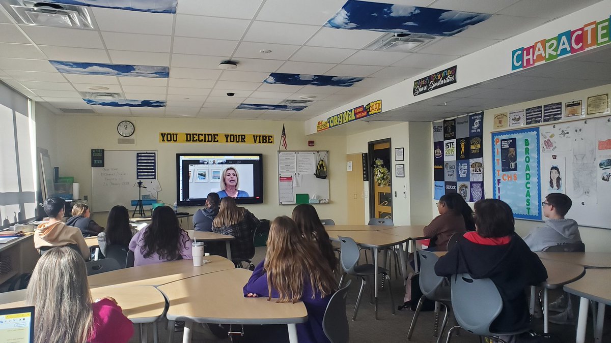
<path fill-rule="evenodd" d="M 490 325 L 503 309 L 503 300 L 492 280 L 488 278 L 476 280 L 469 274 L 457 274 L 450 276 L 450 286 L 452 287 L 452 309 L 458 325 L 448 330 L 445 343 L 450 342 L 452 331 L 456 328 L 463 328 L 470 333 L 488 338 L 513 336 L 529 331 L 528 327 L 514 332 L 493 333 L 490 331 Z M 473 301 L 474 298 L 477 298 L 478 301 Z M 486 306 L 481 306 L 481 304 L 486 304 Z M 501 339 L 498 340 L 504 342 Z"/>

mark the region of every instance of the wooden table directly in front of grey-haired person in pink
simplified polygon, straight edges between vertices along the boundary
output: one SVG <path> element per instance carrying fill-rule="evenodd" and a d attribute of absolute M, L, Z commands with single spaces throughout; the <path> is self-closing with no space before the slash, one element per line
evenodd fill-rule
<path fill-rule="evenodd" d="M 92 300 L 113 297 L 123 309 L 123 314 L 134 324 L 141 324 L 142 342 L 148 341 L 148 324 L 155 323 L 163 316 L 166 298 L 152 286 L 106 286 L 91 289 Z M 25 306 L 26 290 L 7 292 L 2 295 L 0 309 Z M 2 300 L 12 300 L 5 303 Z M 142 325 L 144 329 L 142 330 Z M 157 330 L 153 330 L 156 335 Z"/>

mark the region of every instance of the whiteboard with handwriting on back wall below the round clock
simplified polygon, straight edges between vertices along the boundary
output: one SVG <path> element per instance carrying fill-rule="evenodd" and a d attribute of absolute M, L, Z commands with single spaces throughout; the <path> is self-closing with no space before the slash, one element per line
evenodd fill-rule
<path fill-rule="evenodd" d="M 156 151 L 104 150 L 104 167 L 91 168 L 91 197 L 94 212 L 108 212 L 115 205 L 133 209 L 131 200 L 138 200 L 138 187 L 134 187 L 138 181 L 137 153 L 157 154 Z M 142 194 L 149 193 L 142 189 Z"/>

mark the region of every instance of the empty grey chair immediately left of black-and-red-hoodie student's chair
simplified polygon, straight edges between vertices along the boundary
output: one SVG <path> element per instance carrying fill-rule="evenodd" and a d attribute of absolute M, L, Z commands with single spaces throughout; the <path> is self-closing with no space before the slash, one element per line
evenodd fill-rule
<path fill-rule="evenodd" d="M 432 251 L 418 250 L 417 253 L 420 255 L 420 291 L 422 291 L 422 297 L 418 300 L 418 306 L 412 318 L 412 323 L 409 326 L 408 341 L 412 339 L 412 333 L 418 316 L 420 315 L 420 309 L 422 309 L 422 303 L 425 299 L 435 301 L 435 325 L 433 328 L 433 337 L 437 337 L 437 343 L 441 342 L 441 338 L 444 336 L 445 325 L 448 322 L 448 307 L 451 307 L 452 300 L 450 299 L 450 286 L 444 284 L 445 278 L 443 276 L 437 276 L 435 273 L 435 264 L 439 257 Z M 413 300 L 413 299 L 412 299 Z M 444 321 L 441 323 L 441 334 L 437 334 L 439 325 L 439 311 L 438 306 L 444 307 Z"/>

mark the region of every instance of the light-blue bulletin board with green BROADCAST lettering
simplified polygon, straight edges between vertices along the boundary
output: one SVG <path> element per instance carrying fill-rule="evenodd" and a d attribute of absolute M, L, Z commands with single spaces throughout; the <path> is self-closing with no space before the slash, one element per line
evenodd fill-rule
<path fill-rule="evenodd" d="M 492 133 L 492 179 L 514 217 L 541 219 L 539 128 Z"/>

